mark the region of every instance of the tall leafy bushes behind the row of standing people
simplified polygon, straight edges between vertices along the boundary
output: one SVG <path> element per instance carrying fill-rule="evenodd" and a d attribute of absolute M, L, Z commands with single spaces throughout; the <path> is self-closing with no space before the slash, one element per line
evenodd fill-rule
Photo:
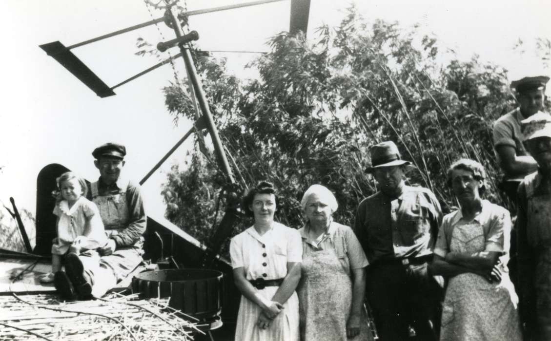
<path fill-rule="evenodd" d="M 493 180 L 487 195 L 503 204 L 491 124 L 516 105 L 503 68 L 478 56 L 458 61 L 418 27 L 368 23 L 353 7 L 338 27 L 323 26 L 317 35 L 314 42 L 273 37 L 271 52 L 250 65 L 257 80 L 229 75 L 224 59 L 195 56 L 242 188 L 263 179 L 276 184 L 277 219 L 300 227 L 302 193 L 326 185 L 339 202 L 334 218 L 350 225 L 359 201 L 376 191 L 364 173 L 368 147 L 393 140 L 417 167 L 410 183 L 433 190 L 444 207 L 454 202 L 445 173 L 460 157 L 484 164 Z M 164 91 L 175 117 L 194 116 L 186 91 L 175 84 Z M 195 150 L 187 169 L 174 167 L 163 192 L 168 218 L 201 237 L 222 186 L 206 156 Z"/>

